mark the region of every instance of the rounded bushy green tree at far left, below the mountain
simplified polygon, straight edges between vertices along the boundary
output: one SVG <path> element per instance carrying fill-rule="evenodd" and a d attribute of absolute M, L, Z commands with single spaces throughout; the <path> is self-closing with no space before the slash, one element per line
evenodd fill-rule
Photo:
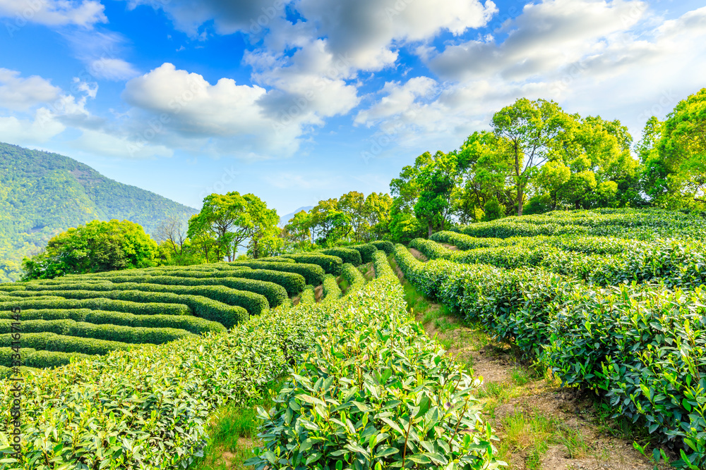
<path fill-rule="evenodd" d="M 131 221 L 92 221 L 59 233 L 23 259 L 23 280 L 155 266 L 157 243 Z"/>

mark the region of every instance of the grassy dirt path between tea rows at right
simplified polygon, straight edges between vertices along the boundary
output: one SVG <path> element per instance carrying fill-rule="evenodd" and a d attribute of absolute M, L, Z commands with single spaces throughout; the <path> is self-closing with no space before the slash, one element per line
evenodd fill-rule
<path fill-rule="evenodd" d="M 400 268 L 391 264 L 409 292 Z M 418 293 L 410 298 L 415 303 L 409 307 L 430 338 L 436 336 L 469 374 L 483 378 L 478 396 L 485 419 L 501 438 L 498 458 L 508 462 L 508 469 L 654 469 L 633 448 L 634 439 L 614 437 L 620 435 L 615 423 L 599 418 L 590 395 L 561 388 L 549 371 L 522 363 L 510 346 L 465 325 L 440 304 Z"/>

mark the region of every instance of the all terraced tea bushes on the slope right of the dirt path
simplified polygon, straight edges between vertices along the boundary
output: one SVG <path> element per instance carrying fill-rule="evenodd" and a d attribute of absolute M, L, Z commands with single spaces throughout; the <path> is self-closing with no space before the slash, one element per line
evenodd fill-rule
<path fill-rule="evenodd" d="M 505 218 L 402 245 L 405 277 L 468 321 L 602 395 L 706 467 L 703 218 L 578 211 Z"/>

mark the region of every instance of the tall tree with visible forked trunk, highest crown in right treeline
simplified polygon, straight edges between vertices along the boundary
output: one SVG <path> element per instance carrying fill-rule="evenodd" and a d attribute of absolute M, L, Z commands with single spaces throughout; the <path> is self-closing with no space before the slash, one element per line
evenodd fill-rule
<path fill-rule="evenodd" d="M 545 99 L 521 98 L 493 115 L 493 132 L 509 144 L 504 149 L 511 161 L 518 216 L 522 216 L 527 185 L 539 174 L 537 167 L 549 160 L 571 120 L 558 104 Z"/>

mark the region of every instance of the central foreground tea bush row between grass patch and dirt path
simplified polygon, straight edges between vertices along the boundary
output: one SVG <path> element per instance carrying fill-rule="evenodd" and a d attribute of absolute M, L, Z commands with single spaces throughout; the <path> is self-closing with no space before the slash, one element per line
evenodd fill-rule
<path fill-rule="evenodd" d="M 375 255 L 373 255 L 375 256 Z M 379 256 L 376 256 L 379 264 Z M 373 258 L 373 261 L 375 259 Z M 407 311 L 391 271 L 336 302 L 335 321 L 294 366 L 246 462 L 325 470 L 498 469 L 477 382 Z"/>

